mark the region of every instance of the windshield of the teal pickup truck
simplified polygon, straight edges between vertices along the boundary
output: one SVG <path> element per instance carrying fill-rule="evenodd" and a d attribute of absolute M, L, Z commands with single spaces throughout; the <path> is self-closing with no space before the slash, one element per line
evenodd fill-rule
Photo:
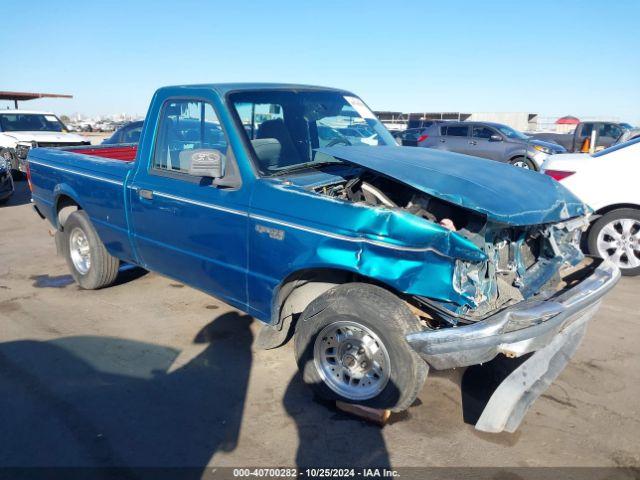
<path fill-rule="evenodd" d="M 237 92 L 229 96 L 262 175 L 341 163 L 318 148 L 397 145 L 358 97 L 331 91 Z"/>

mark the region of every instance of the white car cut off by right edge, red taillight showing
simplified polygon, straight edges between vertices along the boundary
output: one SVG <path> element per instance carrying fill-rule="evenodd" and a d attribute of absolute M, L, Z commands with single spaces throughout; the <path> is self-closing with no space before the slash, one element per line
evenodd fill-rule
<path fill-rule="evenodd" d="M 593 155 L 553 155 L 541 170 L 601 215 L 587 232 L 588 253 L 640 275 L 640 138 Z"/>

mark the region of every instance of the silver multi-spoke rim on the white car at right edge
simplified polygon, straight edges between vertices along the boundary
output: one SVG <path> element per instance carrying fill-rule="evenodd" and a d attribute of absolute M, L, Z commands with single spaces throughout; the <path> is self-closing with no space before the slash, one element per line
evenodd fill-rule
<path fill-rule="evenodd" d="M 640 267 L 640 221 L 621 218 L 598 232 L 598 255 L 619 268 Z"/>

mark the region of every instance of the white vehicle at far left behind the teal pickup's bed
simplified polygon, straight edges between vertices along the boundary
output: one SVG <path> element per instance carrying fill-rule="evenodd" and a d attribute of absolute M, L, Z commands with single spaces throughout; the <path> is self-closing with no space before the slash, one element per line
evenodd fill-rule
<path fill-rule="evenodd" d="M 51 112 L 0 110 L 0 156 L 13 171 L 25 171 L 30 148 L 90 144 L 86 138 L 69 133 Z"/>

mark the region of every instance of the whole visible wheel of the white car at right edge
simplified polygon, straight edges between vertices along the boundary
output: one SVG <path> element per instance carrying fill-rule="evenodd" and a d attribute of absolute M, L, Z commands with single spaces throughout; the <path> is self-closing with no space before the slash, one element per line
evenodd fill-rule
<path fill-rule="evenodd" d="M 640 275 L 640 210 L 606 213 L 592 225 L 587 242 L 590 254 L 614 263 L 623 275 Z"/>

